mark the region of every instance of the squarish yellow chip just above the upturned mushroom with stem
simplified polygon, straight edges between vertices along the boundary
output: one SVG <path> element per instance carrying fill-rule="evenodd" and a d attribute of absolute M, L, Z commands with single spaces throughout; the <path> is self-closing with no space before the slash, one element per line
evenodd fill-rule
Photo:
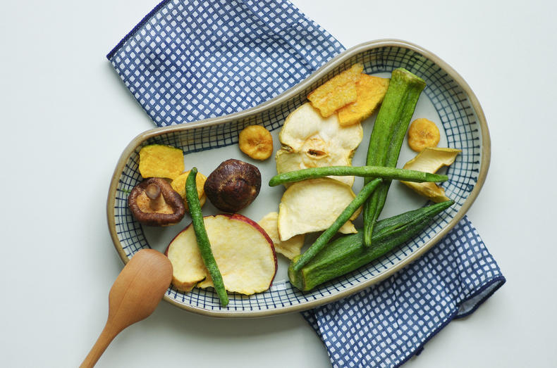
<path fill-rule="evenodd" d="M 140 151 L 142 177 L 174 179 L 184 171 L 184 153 L 180 148 L 164 144 L 150 144 Z"/>

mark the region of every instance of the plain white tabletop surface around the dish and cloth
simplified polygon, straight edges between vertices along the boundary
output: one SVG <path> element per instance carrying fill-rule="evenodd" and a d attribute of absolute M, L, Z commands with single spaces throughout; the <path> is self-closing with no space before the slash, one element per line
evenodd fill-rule
<path fill-rule="evenodd" d="M 122 268 L 106 226 L 109 181 L 123 148 L 154 127 L 104 56 L 157 1 L 2 6 L 1 367 L 76 367 L 104 326 Z M 294 3 L 346 47 L 391 37 L 429 49 L 484 108 L 491 167 L 469 217 L 507 284 L 405 367 L 556 366 L 556 3 Z M 329 365 L 299 314 L 212 319 L 168 303 L 98 364 Z"/>

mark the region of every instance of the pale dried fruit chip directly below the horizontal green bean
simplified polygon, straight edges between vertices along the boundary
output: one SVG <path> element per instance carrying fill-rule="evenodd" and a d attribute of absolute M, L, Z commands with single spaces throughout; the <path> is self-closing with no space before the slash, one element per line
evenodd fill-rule
<path fill-rule="evenodd" d="M 327 177 L 295 182 L 284 192 L 279 204 L 279 235 L 286 241 L 298 234 L 328 229 L 338 215 L 353 201 L 350 186 Z M 360 214 L 357 210 L 350 220 Z M 356 233 L 350 221 L 339 232 Z"/>

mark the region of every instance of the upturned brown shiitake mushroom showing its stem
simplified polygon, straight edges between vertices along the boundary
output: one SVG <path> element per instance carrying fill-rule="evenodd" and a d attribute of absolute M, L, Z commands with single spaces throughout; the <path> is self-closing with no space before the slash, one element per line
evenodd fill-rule
<path fill-rule="evenodd" d="M 128 196 L 128 207 L 135 220 L 149 226 L 177 224 L 185 215 L 182 197 L 160 177 L 137 184 Z"/>

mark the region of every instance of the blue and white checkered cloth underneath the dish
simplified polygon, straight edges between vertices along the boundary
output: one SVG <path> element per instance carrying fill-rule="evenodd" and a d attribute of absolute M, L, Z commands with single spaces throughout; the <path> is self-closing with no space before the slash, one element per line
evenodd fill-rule
<path fill-rule="evenodd" d="M 164 0 L 107 58 L 152 120 L 166 126 L 256 106 L 341 51 L 286 0 Z M 504 282 L 465 217 L 389 279 L 303 315 L 333 367 L 394 367 Z"/>

